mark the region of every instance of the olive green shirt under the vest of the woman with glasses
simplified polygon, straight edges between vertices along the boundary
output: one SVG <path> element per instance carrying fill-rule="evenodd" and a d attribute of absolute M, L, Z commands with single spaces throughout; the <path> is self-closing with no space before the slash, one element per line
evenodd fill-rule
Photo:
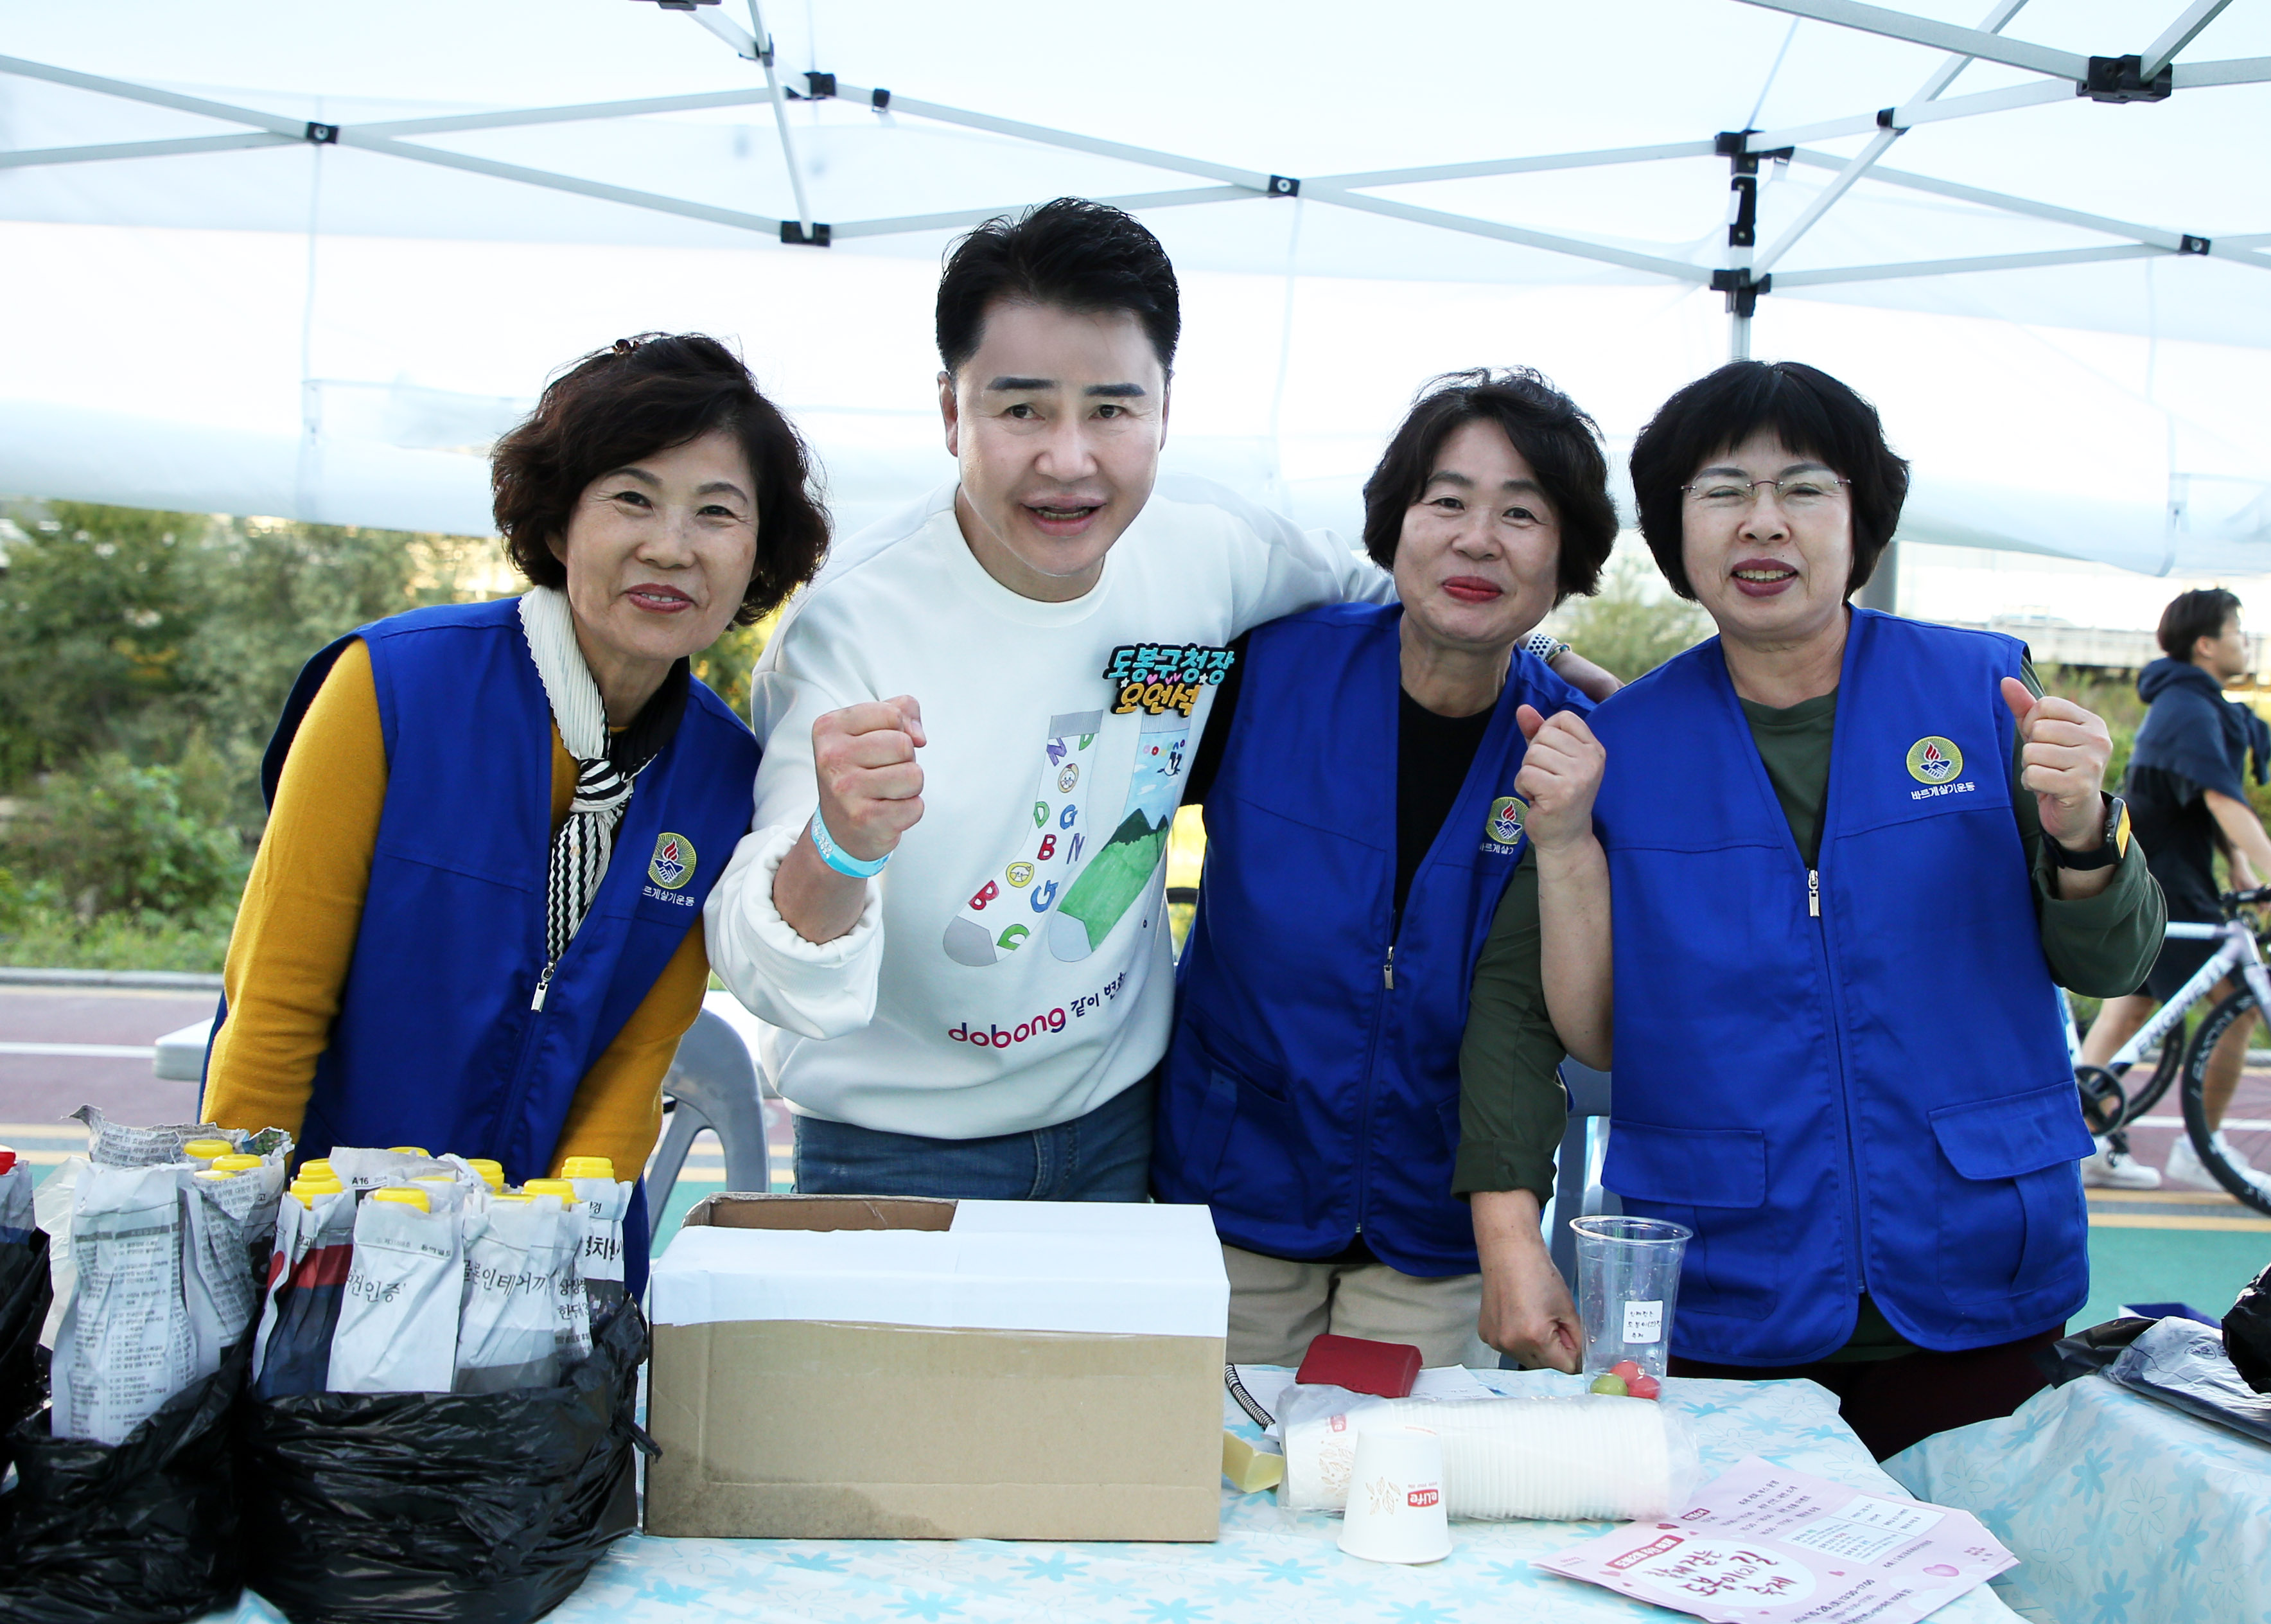
<path fill-rule="evenodd" d="M 2021 679 L 2042 693 L 2033 663 L 2023 665 Z M 1821 849 L 1837 695 L 1780 711 L 1744 700 L 1742 709 L 1767 779 L 1790 818 L 1790 834 L 1812 865 Z M 2017 745 L 2012 811 L 2033 863 L 2042 952 L 2053 979 L 2089 997 L 2135 993 L 2153 968 L 2167 922 L 2144 849 L 2130 843 L 2105 890 L 2069 902 L 2058 895 L 2058 865 L 2042 834 L 2035 795 L 2019 786 Z M 1569 1104 L 1556 1074 L 1562 1054 L 1544 999 L 1537 870 L 1524 854 L 1474 968 L 1467 1036 L 1458 1052 L 1460 1145 L 1451 1179 L 1458 1195 L 1533 1190 L 1540 1202 L 1553 1195 L 1553 1154 L 1569 1122 Z M 1864 1326 L 1871 1317 L 1883 1324 L 1878 1315 L 1864 1313 Z"/>

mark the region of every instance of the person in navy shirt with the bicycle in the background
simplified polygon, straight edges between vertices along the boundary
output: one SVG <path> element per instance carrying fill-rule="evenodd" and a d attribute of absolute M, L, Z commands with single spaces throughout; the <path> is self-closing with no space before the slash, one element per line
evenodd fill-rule
<path fill-rule="evenodd" d="M 2248 806 L 2246 768 L 2255 756 L 2255 781 L 2271 770 L 2266 729 L 2246 706 L 2223 697 L 2223 686 L 2248 675 L 2248 643 L 2239 631 L 2239 600 L 2221 586 L 2182 593 L 2160 611 L 2157 659 L 2137 675 L 2137 695 L 2151 706 L 2137 729 L 2128 781 L 2121 790 L 2130 809 L 2137 845 L 2144 847 L 2153 877 L 2169 897 L 2169 918 L 2196 924 L 2219 924 L 2216 852 L 2232 863 L 2232 888 L 2246 890 L 2271 879 L 2271 836 Z M 2112 1054 L 2137 1036 L 2167 999 L 2182 990 L 2207 956 L 2212 940 L 2173 940 L 2160 949 L 2146 983 L 2128 997 L 2107 999 L 2089 1036 L 2083 1040 L 2083 1065 L 2105 1065 Z M 2228 977 L 2216 997 L 2237 993 L 2239 977 Z M 2246 1063 L 2253 1015 L 2241 1015 L 2216 1040 L 2207 1061 L 2201 1104 L 2212 1124 L 2239 1086 Z M 2180 1033 L 2171 1033 L 2176 1043 Z M 2223 1140 L 2216 1147 L 2241 1172 L 2253 1172 L 2246 1156 Z M 2189 1133 L 2178 1133 L 2169 1147 L 2169 1181 L 2189 1190 L 2221 1190 L 2214 1174 L 2201 1165 Z M 2126 1190 L 2160 1188 L 2160 1174 L 2119 1147 L 2105 1147 L 2083 1163 L 2083 1183 Z"/>

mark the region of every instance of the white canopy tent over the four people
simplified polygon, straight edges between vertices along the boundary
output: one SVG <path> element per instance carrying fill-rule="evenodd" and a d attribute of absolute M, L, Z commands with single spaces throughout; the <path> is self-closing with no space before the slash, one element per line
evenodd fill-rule
<path fill-rule="evenodd" d="M 477 531 L 547 372 L 704 327 L 852 525 L 947 472 L 942 245 L 1081 193 L 1185 273 L 1170 457 L 1313 522 L 1435 370 L 1621 441 L 1733 350 L 1878 400 L 1905 538 L 2271 568 L 2271 2 L 1955 5 L 18 11 L 0 488 Z"/>

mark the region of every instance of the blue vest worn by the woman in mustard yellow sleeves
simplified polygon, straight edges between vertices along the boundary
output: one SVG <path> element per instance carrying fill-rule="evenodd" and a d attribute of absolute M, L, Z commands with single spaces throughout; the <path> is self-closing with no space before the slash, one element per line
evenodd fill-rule
<path fill-rule="evenodd" d="M 511 1183 L 543 1179 L 584 1074 L 686 931 L 702 929 L 702 899 L 749 829 L 756 740 L 688 684 L 679 731 L 638 775 L 600 895 L 531 1011 L 545 965 L 552 706 L 520 602 L 416 609 L 316 654 L 261 763 L 270 802 L 300 718 L 354 638 L 379 695 L 386 804 L 300 1154 L 425 1145 L 491 1156 Z M 645 1263 L 640 1186 L 625 1224 L 634 1292 Z"/>

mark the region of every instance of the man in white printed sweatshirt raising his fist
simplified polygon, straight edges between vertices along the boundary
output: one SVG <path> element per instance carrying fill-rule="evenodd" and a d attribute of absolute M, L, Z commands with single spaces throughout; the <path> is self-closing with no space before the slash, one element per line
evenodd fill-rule
<path fill-rule="evenodd" d="M 1179 327 L 1131 216 L 979 227 L 938 288 L 958 482 L 838 545 L 759 663 L 754 831 L 704 927 L 802 1033 L 774 1056 L 799 1190 L 1147 1192 L 1167 824 L 1229 643 L 1392 595 L 1338 538 L 1158 479 Z"/>

